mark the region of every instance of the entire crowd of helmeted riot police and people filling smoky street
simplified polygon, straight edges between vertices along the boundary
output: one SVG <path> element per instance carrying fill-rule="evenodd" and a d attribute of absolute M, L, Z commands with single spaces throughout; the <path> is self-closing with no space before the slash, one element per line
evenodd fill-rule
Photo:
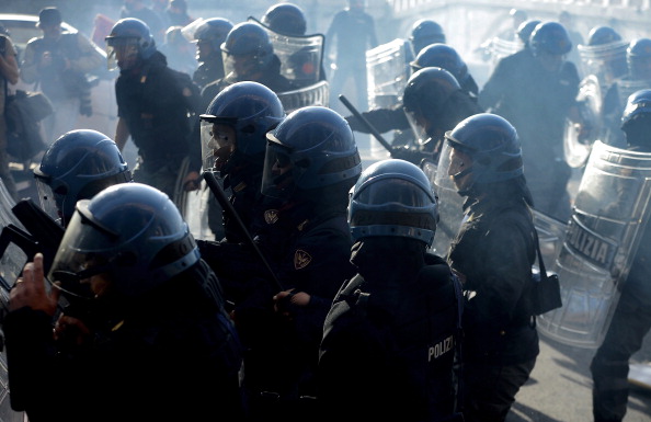
<path fill-rule="evenodd" d="M 192 41 L 185 1 L 156 5 L 126 0 L 104 38 L 119 72 L 112 136 L 76 123 L 88 94 L 79 81 L 101 56 L 61 32 L 58 9 L 41 11 L 43 36 L 20 64 L 0 35 L 0 78 L 38 80 L 55 105 L 33 199 L 65 229 L 56 254 L 28 256 L 10 292 L 12 409 L 34 422 L 326 421 L 342 410 L 346 420 L 505 421 L 540 352 L 534 210 L 571 217 L 564 125 L 595 124 L 576 101 L 589 67 L 567 60 L 579 38 L 514 10 L 522 49 L 479 87 L 442 26 L 419 20 L 399 101 L 366 110 L 363 89 L 363 113 L 344 115 L 283 102 L 310 88 L 283 58 L 306 59 L 315 82 L 329 77 L 270 35 L 305 36 L 296 4 L 260 21 L 204 19 Z M 621 53 L 621 37 L 593 35 L 579 53 L 608 43 Z M 167 56 L 179 43 L 196 50 L 187 68 Z M 377 38 L 363 1 L 333 16 L 324 43 L 319 53 L 336 50 L 331 94 L 351 77 L 364 88 Z M 603 132 L 648 152 L 651 41 L 631 41 L 626 60 L 604 81 Z M 389 157 L 364 168 L 355 132 L 374 129 L 396 136 Z M 464 202 L 445 250 L 432 249 L 443 208 L 425 162 Z M 16 198 L 11 174 L 0 178 Z M 204 185 L 216 236 L 195 239 L 180 198 Z M 651 328 L 640 244 L 591 366 L 595 422 L 623 420 L 628 360 Z"/>

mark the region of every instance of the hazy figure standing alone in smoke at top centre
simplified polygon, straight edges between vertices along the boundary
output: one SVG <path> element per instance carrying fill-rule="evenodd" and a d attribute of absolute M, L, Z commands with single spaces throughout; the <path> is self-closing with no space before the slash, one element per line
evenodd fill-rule
<path fill-rule="evenodd" d="M 351 102 L 357 110 L 368 109 L 366 92 L 366 50 L 378 45 L 375 22 L 366 13 L 364 0 L 349 0 L 349 7 L 338 12 L 326 32 L 324 56 L 330 57 L 334 52 L 334 65 L 330 94 L 338 98 L 344 91 L 344 85 L 351 83 L 355 95 Z M 334 110 L 341 110 L 339 104 Z"/>

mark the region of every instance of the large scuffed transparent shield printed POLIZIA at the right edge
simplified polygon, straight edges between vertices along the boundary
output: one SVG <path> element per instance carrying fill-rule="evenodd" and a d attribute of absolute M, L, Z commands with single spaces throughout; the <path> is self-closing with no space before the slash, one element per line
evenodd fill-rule
<path fill-rule="evenodd" d="M 598 347 L 651 212 L 651 153 L 597 140 L 591 151 L 562 247 L 550 270 L 563 306 L 538 318 L 561 343 Z"/>

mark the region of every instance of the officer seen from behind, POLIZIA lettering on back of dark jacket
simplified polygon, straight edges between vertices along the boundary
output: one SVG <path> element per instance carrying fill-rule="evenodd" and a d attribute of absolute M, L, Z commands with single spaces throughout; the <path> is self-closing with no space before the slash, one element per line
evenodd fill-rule
<path fill-rule="evenodd" d="M 357 274 L 343 284 L 323 327 L 324 420 L 342 409 L 350 420 L 462 420 L 455 373 L 461 290 L 445 260 L 427 253 L 437 219 L 429 179 L 408 161 L 372 164 L 352 190 Z"/>

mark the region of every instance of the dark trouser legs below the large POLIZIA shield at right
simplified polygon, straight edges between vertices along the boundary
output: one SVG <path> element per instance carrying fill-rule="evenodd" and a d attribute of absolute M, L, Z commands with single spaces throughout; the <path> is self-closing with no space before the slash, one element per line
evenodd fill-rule
<path fill-rule="evenodd" d="M 628 403 L 628 361 L 642 347 L 651 329 L 646 296 L 625 285 L 608 332 L 590 365 L 592 413 L 595 422 L 621 421 Z"/>

